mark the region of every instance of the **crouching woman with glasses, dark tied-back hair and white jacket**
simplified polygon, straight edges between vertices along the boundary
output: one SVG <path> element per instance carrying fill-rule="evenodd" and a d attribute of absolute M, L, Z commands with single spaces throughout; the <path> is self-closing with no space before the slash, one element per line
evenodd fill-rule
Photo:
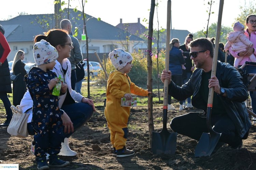
<path fill-rule="evenodd" d="M 60 38 L 61 37 L 61 38 Z M 76 156 L 76 152 L 69 148 L 69 137 L 73 132 L 84 125 L 93 115 L 95 106 L 93 100 L 87 99 L 75 92 L 71 88 L 71 65 L 68 57 L 70 57 L 71 49 L 73 49 L 72 42 L 66 30 L 53 29 L 44 33 L 44 35 L 38 35 L 34 39 L 34 43 L 41 39 L 46 40 L 58 51 L 58 58 L 53 72 L 57 74 L 57 77 L 61 75 L 64 79 L 63 83 L 68 85 L 66 94 L 59 97 L 59 108 L 61 108 L 64 114 L 61 116 L 63 121 L 63 127 L 65 132 L 65 139 L 61 143 L 61 150 L 59 155 L 62 156 Z M 34 135 L 31 119 L 32 119 L 32 105 L 33 101 L 29 92 L 27 91 L 23 96 L 20 106 L 25 113 L 30 114 L 28 118 L 28 132 L 30 135 Z M 31 152 L 33 152 L 34 143 L 32 141 Z"/>

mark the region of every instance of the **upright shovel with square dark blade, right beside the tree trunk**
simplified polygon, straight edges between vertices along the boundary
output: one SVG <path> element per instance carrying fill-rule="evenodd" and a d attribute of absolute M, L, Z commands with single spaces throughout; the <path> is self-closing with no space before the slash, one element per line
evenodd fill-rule
<path fill-rule="evenodd" d="M 165 70 L 169 70 L 169 50 L 170 50 L 170 22 L 171 22 L 171 0 L 167 2 L 167 29 L 166 29 L 166 57 Z M 153 154 L 175 154 L 177 145 L 177 133 L 170 133 L 167 130 L 167 104 L 168 104 L 168 80 L 163 85 L 163 128 L 161 132 L 152 133 L 151 150 Z"/>

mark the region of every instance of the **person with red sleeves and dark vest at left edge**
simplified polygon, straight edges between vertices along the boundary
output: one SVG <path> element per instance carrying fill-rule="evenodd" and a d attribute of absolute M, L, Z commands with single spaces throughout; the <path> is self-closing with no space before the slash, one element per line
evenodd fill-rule
<path fill-rule="evenodd" d="M 10 46 L 4 37 L 4 29 L 0 25 L 0 99 L 6 112 L 6 120 L 0 126 L 9 126 L 12 120 L 11 102 L 7 96 L 7 93 L 12 93 L 10 69 L 7 61 L 10 52 Z"/>

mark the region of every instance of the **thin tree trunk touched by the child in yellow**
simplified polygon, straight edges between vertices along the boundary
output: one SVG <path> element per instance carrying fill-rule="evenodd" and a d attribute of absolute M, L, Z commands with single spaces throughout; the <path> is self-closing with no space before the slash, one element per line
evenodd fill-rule
<path fill-rule="evenodd" d="M 151 0 L 151 7 L 150 7 L 150 17 L 149 17 L 149 24 L 148 24 L 148 36 L 153 37 L 153 19 L 154 19 L 154 12 L 155 12 L 155 0 Z M 152 39 L 148 39 L 147 41 L 147 89 L 148 91 L 153 90 L 152 88 L 152 58 L 150 56 L 150 52 L 152 51 Z M 154 121 L 153 121 L 153 95 L 148 95 L 148 104 L 147 104 L 147 114 L 148 114 L 148 132 L 150 135 L 149 147 L 151 148 L 152 142 L 152 132 L 154 131 Z"/>

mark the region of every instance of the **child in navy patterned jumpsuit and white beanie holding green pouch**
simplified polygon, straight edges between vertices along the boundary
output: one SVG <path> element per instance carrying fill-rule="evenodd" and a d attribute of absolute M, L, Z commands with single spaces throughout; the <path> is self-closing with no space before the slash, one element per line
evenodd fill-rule
<path fill-rule="evenodd" d="M 47 41 L 41 40 L 34 44 L 33 53 L 37 67 L 31 68 L 24 80 L 33 99 L 31 124 L 35 132 L 34 155 L 40 170 L 64 167 L 69 165 L 69 162 L 59 159 L 57 155 L 64 139 L 61 119 L 64 111 L 58 107 L 58 96 L 52 95 L 58 80 L 56 73 L 51 70 L 56 64 L 58 52 Z M 67 84 L 62 84 L 60 95 L 66 91 Z M 49 166 L 46 162 L 46 153 L 49 154 Z"/>

